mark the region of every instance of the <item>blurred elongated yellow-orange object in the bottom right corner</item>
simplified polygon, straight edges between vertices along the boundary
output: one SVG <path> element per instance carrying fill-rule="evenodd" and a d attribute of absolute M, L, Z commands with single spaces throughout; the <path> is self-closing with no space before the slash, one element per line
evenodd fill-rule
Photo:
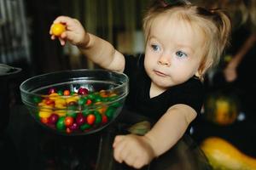
<path fill-rule="evenodd" d="M 245 155 L 224 139 L 209 137 L 201 143 L 201 150 L 204 151 L 213 169 L 256 169 L 256 158 Z"/>

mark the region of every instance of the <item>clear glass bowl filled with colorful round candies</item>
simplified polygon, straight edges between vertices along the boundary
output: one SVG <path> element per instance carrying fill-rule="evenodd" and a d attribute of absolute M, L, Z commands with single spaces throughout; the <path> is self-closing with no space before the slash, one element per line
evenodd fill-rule
<path fill-rule="evenodd" d="M 106 70 L 73 70 L 32 77 L 20 85 L 31 115 L 57 133 L 80 135 L 108 126 L 128 94 L 128 77 Z"/>

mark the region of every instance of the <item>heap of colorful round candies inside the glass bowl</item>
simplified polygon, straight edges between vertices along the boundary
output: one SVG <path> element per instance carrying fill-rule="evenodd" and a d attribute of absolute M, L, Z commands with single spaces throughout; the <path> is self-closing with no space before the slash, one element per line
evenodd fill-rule
<path fill-rule="evenodd" d="M 61 133 L 84 133 L 104 126 L 113 120 L 119 102 L 112 102 L 118 95 L 105 90 L 90 92 L 87 88 L 49 88 L 44 97 L 35 97 L 38 119 L 47 127 Z M 106 105 L 109 102 L 111 105 Z"/>

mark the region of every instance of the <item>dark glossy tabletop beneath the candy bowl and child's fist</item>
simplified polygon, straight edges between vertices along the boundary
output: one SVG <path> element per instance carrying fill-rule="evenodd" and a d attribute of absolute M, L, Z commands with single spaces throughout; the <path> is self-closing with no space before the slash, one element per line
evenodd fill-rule
<path fill-rule="evenodd" d="M 122 111 L 122 114 L 127 114 Z M 127 133 L 118 119 L 101 132 L 84 136 L 62 136 L 41 127 L 25 105 L 10 110 L 9 126 L 1 134 L 1 166 L 27 170 L 123 170 L 133 169 L 113 159 L 113 139 Z M 195 141 L 184 135 L 166 154 L 143 169 L 211 169 Z"/>

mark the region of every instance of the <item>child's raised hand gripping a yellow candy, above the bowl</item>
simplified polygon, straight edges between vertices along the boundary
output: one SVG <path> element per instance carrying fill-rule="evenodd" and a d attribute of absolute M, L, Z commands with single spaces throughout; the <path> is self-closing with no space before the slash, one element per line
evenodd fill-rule
<path fill-rule="evenodd" d="M 50 26 L 49 34 L 51 35 L 51 39 L 54 40 L 56 36 L 52 32 L 52 27 L 56 23 L 61 23 L 62 25 L 66 26 L 65 31 L 58 36 L 61 45 L 65 45 L 66 42 L 71 42 L 73 45 L 86 47 L 88 43 L 88 34 L 84 30 L 84 27 L 81 25 L 79 20 L 75 20 L 73 18 L 67 16 L 59 16 Z"/>

